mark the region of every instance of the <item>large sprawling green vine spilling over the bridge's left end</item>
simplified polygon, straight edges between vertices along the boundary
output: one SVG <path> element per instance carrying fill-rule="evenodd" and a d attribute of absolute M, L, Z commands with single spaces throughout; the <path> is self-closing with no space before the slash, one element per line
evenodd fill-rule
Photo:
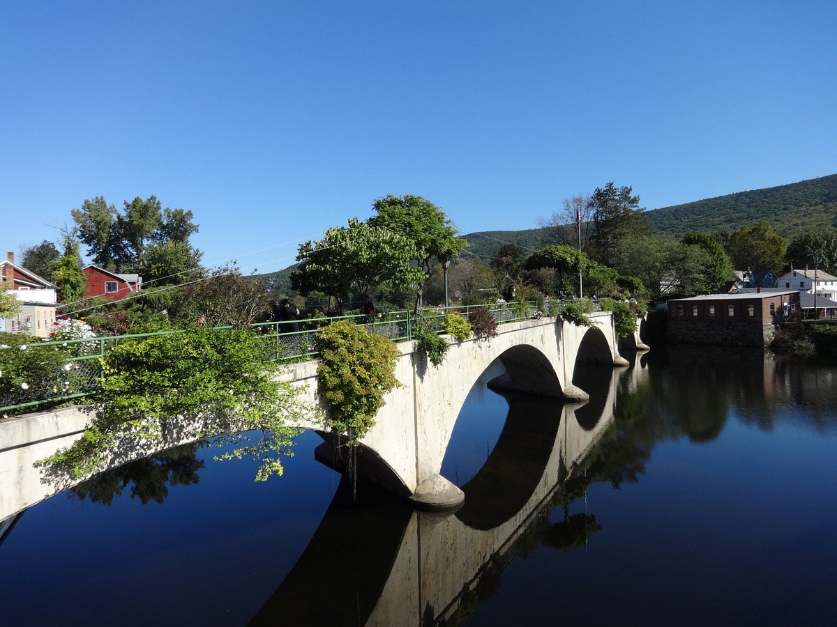
<path fill-rule="evenodd" d="M 243 329 L 193 328 L 178 334 L 125 339 L 102 363 L 93 400 L 95 417 L 79 441 L 41 463 L 84 477 L 131 439 L 158 439 L 186 421 L 229 436 L 239 449 L 222 458 L 256 456 L 257 479 L 281 472 L 279 454 L 290 446 L 285 426 L 310 410 L 290 383 L 277 380 L 261 339 Z M 200 431 L 198 436 L 210 435 Z M 247 444 L 242 445 L 246 441 Z"/>

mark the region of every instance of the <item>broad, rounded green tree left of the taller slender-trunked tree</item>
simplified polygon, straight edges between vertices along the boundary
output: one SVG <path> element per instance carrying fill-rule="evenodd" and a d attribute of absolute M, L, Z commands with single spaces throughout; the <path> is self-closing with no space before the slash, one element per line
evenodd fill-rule
<path fill-rule="evenodd" d="M 342 311 L 352 296 L 367 300 L 381 283 L 401 289 L 424 280 L 426 274 L 410 265 L 418 255 L 400 232 L 351 218 L 348 227 L 328 229 L 320 242 L 300 244 L 290 281 L 303 296 L 322 292 L 334 298 Z"/>

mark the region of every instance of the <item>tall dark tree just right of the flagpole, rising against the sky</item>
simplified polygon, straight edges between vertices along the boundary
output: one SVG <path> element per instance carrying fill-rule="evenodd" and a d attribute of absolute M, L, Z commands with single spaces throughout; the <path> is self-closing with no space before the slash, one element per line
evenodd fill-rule
<path fill-rule="evenodd" d="M 593 210 L 593 233 L 590 257 L 603 263 L 611 257 L 624 237 L 631 233 L 650 232 L 650 224 L 639 208 L 639 196 L 632 196 L 633 187 L 614 186 L 613 181 L 597 187 L 590 196 Z"/>

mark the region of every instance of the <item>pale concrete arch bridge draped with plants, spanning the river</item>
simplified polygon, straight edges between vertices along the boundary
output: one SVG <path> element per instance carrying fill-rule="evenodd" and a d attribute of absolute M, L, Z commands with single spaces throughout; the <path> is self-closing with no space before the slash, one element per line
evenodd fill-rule
<path fill-rule="evenodd" d="M 358 476 L 409 497 L 421 507 L 458 507 L 463 492 L 441 477 L 439 470 L 465 397 L 480 377 L 499 370 L 502 374 L 490 380 L 490 386 L 584 401 L 588 400 L 587 391 L 573 385 L 578 362 L 627 365 L 619 356 L 611 314 L 599 312 L 589 318 L 590 327 L 553 318 L 503 324 L 495 338 L 451 344 L 439 368 L 416 354 L 412 342 L 399 344 L 396 376 L 403 387 L 387 395 L 375 426 L 363 438 L 357 451 Z M 634 338 L 634 344 L 639 340 Z M 319 402 L 316 366 L 316 361 L 310 361 L 290 369 L 313 402 Z M 0 521 L 79 481 L 45 476 L 33 463 L 70 446 L 89 421 L 84 408 L 0 421 Z M 322 425 L 300 427 L 323 437 L 325 442 L 317 448 L 316 456 L 339 469 L 340 460 L 334 456 L 336 434 Z M 204 425 L 178 425 L 159 441 L 129 442 L 122 450 L 113 451 L 101 470 L 194 441 L 205 432 Z"/>

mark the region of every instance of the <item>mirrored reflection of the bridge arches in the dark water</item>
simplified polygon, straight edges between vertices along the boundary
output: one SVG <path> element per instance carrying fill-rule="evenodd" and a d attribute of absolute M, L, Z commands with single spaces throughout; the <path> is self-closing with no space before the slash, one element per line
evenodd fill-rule
<path fill-rule="evenodd" d="M 629 370 L 580 368 L 573 384 L 589 390 L 586 404 L 508 396 L 496 446 L 461 486 L 465 504 L 454 514 L 414 512 L 374 492 L 356 501 L 343 478 L 311 542 L 251 624 L 455 623 L 491 589 L 517 543 L 583 543 L 598 525 L 592 516 L 567 517 L 578 496 L 573 478 L 614 420 L 619 380 L 643 370 L 639 359 Z M 559 504 L 564 520 L 550 523 Z"/>

